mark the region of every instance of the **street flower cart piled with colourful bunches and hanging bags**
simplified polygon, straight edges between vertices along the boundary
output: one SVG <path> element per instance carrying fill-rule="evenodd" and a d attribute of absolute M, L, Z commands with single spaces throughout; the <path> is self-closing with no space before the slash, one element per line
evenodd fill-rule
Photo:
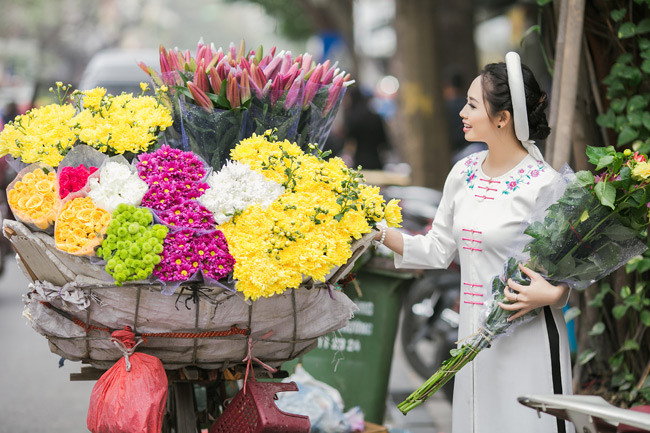
<path fill-rule="evenodd" d="M 0 133 L 18 172 L 3 232 L 31 281 L 24 315 L 88 365 L 72 379 L 101 373 L 89 430 L 195 431 L 199 382 L 202 425 L 243 431 L 223 425 L 226 383 L 244 379 L 261 412 L 255 389 L 275 388 L 255 372 L 277 376 L 348 324 L 357 307 L 337 283 L 399 207 L 319 149 L 351 83 L 336 65 L 200 43 L 195 57 L 161 48 L 160 73 L 142 66 L 155 97 L 70 100 L 57 83 L 59 104 Z M 282 431 L 306 431 L 294 421 Z"/>

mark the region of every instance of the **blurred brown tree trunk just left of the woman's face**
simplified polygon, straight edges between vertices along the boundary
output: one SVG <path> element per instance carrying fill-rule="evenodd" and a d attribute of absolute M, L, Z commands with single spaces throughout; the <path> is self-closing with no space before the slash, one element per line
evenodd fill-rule
<path fill-rule="evenodd" d="M 449 172 L 447 124 L 440 86 L 438 2 L 396 2 L 400 131 L 415 185 L 442 189 Z M 440 137 L 443 139 L 441 140 Z"/>

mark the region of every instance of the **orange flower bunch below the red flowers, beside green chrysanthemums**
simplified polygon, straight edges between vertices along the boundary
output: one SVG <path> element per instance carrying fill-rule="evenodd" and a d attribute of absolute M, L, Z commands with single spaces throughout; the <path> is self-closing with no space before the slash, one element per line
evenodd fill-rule
<path fill-rule="evenodd" d="M 110 221 L 111 214 L 96 207 L 90 197 L 69 200 L 56 220 L 56 247 L 70 254 L 91 254 L 101 243 Z"/>

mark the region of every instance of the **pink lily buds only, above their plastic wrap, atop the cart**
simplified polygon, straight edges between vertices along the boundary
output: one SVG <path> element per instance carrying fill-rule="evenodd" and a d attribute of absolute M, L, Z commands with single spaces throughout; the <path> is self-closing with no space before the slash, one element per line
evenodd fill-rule
<path fill-rule="evenodd" d="M 194 56 L 189 50 L 160 46 L 160 74 L 140 63 L 157 83 L 174 86 L 206 109 L 247 108 L 251 99 L 270 100 L 285 110 L 310 107 L 319 89 L 328 86 L 322 114 L 329 113 L 343 88 L 351 85 L 350 74 L 329 60 L 315 63 L 308 53 L 293 57 L 291 51 L 264 54 L 262 46 L 246 51 L 242 41 L 227 50 L 199 41 Z"/>

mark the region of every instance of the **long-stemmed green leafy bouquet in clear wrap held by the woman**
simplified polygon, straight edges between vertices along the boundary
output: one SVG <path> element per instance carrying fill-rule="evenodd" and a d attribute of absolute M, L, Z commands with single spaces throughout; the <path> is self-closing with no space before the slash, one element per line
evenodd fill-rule
<path fill-rule="evenodd" d="M 492 341 L 512 332 L 511 327 L 539 313 L 531 311 L 509 322 L 511 314 L 498 303 L 511 303 L 504 289 L 508 279 L 529 284 L 518 263 L 542 274 L 551 284 L 566 284 L 583 289 L 609 275 L 647 246 L 648 206 L 650 202 L 650 163 L 645 155 L 614 147 L 589 147 L 589 171 L 564 173 L 566 185 L 550 206 L 534 209 L 524 224 L 523 242 L 513 248 L 502 275 L 492 280 L 492 300 L 486 302 L 485 320 L 479 332 L 452 350 L 420 388 L 398 405 L 406 414 L 440 389 Z M 541 216 L 541 217 L 538 217 Z"/>

